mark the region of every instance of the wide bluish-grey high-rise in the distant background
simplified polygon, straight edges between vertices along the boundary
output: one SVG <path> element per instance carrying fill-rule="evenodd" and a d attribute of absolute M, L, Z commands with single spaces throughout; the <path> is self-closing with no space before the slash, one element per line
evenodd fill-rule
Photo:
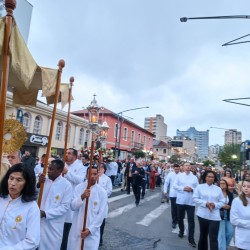
<path fill-rule="evenodd" d="M 209 145 L 209 130 L 207 131 L 198 131 L 194 127 L 190 127 L 186 131 L 180 131 L 177 129 L 176 135 L 189 138 L 196 143 L 198 158 L 200 160 L 208 158 L 208 145 Z"/>

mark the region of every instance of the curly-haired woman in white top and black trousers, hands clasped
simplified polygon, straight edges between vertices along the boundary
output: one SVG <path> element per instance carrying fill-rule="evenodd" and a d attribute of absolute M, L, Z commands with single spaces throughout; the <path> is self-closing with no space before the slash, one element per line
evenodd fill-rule
<path fill-rule="evenodd" d="M 208 235 L 210 249 L 218 250 L 218 233 L 220 226 L 220 208 L 224 205 L 221 188 L 214 185 L 217 181 L 212 170 L 206 170 L 202 184 L 194 190 L 193 201 L 198 205 L 197 217 L 200 225 L 198 250 L 208 249 Z"/>

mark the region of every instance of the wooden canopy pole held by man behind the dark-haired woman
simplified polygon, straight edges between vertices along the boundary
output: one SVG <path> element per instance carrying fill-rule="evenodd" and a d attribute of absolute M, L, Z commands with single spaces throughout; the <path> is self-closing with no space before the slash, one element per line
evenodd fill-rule
<path fill-rule="evenodd" d="M 46 157 L 44 160 L 44 167 L 43 167 L 43 174 L 46 175 L 47 168 L 48 168 L 48 161 L 50 157 L 50 148 L 51 148 L 51 141 L 52 141 L 52 136 L 53 136 L 53 129 L 54 129 L 54 123 L 55 123 L 55 117 L 56 117 L 56 106 L 58 103 L 58 98 L 59 98 L 59 92 L 60 92 L 60 84 L 61 84 L 61 76 L 62 76 L 62 69 L 65 66 L 64 60 L 60 60 L 58 62 L 58 75 L 57 75 L 57 82 L 56 82 L 56 94 L 55 94 L 55 99 L 54 99 L 54 108 L 53 108 L 53 113 L 52 113 L 52 118 L 51 118 L 51 125 L 50 125 L 50 131 L 49 131 L 49 141 L 48 141 L 48 146 L 47 146 L 47 151 L 46 151 Z M 38 196 L 38 206 L 41 206 L 41 201 L 42 201 L 42 196 L 43 196 L 43 188 L 44 188 L 44 183 L 40 184 L 40 192 Z"/>

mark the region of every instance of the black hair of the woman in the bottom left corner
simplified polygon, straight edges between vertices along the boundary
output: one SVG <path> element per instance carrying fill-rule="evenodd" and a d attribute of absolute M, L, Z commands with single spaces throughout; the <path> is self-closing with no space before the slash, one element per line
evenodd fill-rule
<path fill-rule="evenodd" d="M 12 173 L 20 172 L 23 174 L 23 178 L 26 183 L 22 190 L 22 202 L 34 201 L 37 198 L 36 192 L 36 177 L 33 169 L 26 167 L 23 163 L 17 163 L 13 165 L 3 177 L 0 185 L 0 197 L 6 198 L 9 194 L 8 180 Z"/>

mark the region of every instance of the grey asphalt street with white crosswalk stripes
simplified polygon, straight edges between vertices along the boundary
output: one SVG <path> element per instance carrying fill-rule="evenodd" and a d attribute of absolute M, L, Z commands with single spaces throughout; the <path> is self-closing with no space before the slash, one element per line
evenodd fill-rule
<path fill-rule="evenodd" d="M 178 237 L 178 229 L 171 228 L 171 208 L 160 203 L 160 188 L 147 191 L 138 207 L 134 196 L 115 189 L 109 198 L 109 217 L 106 220 L 104 244 L 100 250 L 186 250 L 193 249 L 188 239 Z M 195 241 L 198 242 L 196 220 Z M 234 248 L 231 248 L 234 249 Z"/>

